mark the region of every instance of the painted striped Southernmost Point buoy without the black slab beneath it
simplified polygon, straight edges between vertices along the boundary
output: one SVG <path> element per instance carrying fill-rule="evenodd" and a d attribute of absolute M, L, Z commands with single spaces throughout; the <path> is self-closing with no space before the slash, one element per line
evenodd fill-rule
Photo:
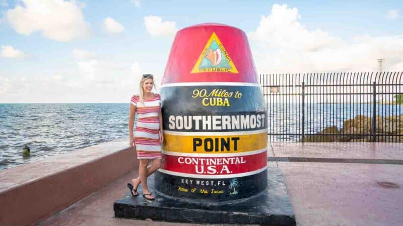
<path fill-rule="evenodd" d="M 161 97 L 165 141 L 157 191 L 226 201 L 266 188 L 266 108 L 243 31 L 222 24 L 178 31 Z"/>

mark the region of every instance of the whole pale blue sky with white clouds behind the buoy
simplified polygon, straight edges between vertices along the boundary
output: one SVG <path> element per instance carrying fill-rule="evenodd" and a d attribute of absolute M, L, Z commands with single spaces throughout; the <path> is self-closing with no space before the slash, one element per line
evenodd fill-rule
<path fill-rule="evenodd" d="M 258 73 L 403 71 L 402 1 L 0 0 L 0 103 L 128 102 L 175 33 L 243 30 Z"/>

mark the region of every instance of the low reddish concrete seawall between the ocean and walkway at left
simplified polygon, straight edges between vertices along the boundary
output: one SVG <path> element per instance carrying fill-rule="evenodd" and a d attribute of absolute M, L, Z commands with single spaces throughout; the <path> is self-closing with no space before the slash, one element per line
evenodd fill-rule
<path fill-rule="evenodd" d="M 126 139 L 0 171 L 0 225 L 35 225 L 138 165 Z"/>

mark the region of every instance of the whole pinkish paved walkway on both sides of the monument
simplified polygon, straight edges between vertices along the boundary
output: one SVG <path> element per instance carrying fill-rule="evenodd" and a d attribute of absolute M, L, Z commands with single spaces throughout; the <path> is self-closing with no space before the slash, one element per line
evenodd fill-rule
<path fill-rule="evenodd" d="M 283 172 L 297 225 L 403 225 L 403 165 L 331 161 L 403 160 L 403 144 L 274 143 L 271 147 L 269 157 L 328 161 L 268 162 Z M 133 170 L 40 225 L 190 225 L 113 217 L 113 202 L 127 192 L 125 184 L 136 174 Z"/>

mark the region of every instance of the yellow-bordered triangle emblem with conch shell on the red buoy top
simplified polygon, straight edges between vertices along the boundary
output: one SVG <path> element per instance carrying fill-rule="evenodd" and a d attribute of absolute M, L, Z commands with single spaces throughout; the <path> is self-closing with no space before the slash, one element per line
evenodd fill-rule
<path fill-rule="evenodd" d="M 210 36 L 190 73 L 230 72 L 238 74 L 234 62 L 216 33 Z"/>

